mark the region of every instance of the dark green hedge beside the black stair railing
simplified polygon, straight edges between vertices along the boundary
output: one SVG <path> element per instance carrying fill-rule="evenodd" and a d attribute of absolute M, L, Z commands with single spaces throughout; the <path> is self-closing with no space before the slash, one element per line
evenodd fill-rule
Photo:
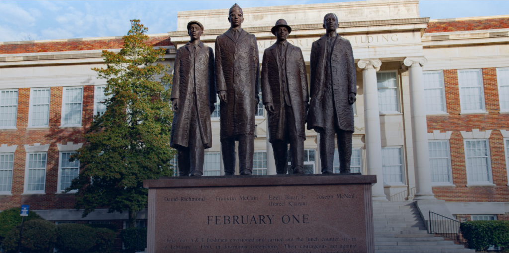
<path fill-rule="evenodd" d="M 475 220 L 461 224 L 461 233 L 468 247 L 487 250 L 491 245 L 509 249 L 509 221 Z"/>

